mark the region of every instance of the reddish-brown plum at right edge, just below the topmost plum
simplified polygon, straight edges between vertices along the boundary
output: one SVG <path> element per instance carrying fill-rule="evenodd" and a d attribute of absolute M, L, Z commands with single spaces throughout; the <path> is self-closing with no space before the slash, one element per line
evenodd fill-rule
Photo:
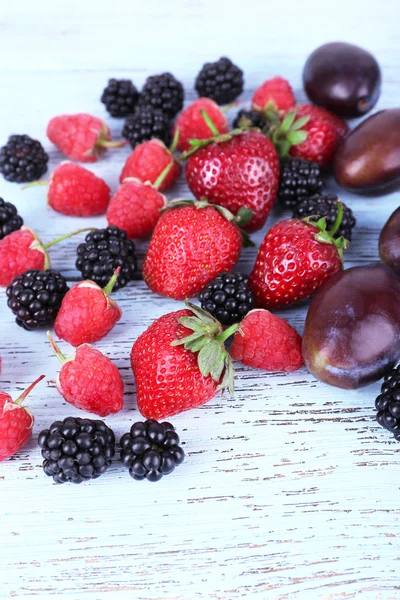
<path fill-rule="evenodd" d="M 336 181 L 353 192 L 381 194 L 400 185 L 400 108 L 362 121 L 339 146 Z"/>

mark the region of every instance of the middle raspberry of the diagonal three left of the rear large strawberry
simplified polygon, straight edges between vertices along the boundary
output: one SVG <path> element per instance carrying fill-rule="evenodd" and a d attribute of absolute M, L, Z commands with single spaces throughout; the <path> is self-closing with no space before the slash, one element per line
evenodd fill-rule
<path fill-rule="evenodd" d="M 126 159 L 119 181 L 123 183 L 124 179 L 134 177 L 154 184 L 168 165 L 172 167 L 158 188 L 160 192 L 173 186 L 180 175 L 181 166 L 165 144 L 154 138 L 136 146 Z"/>

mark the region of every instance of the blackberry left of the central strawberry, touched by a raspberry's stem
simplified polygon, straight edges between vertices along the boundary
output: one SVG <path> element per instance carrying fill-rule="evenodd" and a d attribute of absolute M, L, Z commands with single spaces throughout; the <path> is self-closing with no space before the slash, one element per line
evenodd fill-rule
<path fill-rule="evenodd" d="M 114 291 L 134 279 L 137 269 L 135 244 L 118 227 L 91 231 L 79 244 L 77 253 L 76 268 L 83 279 L 91 279 L 100 287 L 107 285 L 117 267 L 121 267 L 121 271 Z"/>

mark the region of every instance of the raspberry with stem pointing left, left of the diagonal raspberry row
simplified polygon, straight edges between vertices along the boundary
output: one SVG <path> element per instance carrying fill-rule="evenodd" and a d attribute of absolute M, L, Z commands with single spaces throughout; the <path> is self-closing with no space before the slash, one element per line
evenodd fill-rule
<path fill-rule="evenodd" d="M 49 185 L 47 204 L 63 215 L 92 217 L 106 212 L 110 188 L 89 169 L 64 161 L 51 174 L 49 181 L 34 181 L 25 186 Z"/>

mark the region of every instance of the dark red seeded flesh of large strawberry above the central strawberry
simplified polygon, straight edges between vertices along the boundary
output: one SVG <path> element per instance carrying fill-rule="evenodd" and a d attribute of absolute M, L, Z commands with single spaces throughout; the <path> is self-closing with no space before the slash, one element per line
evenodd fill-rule
<path fill-rule="evenodd" d="M 187 153 L 186 179 L 191 192 L 234 215 L 242 207 L 250 209 L 253 216 L 244 228 L 260 229 L 279 184 L 279 157 L 272 142 L 260 131 L 239 131 L 203 143 Z"/>

